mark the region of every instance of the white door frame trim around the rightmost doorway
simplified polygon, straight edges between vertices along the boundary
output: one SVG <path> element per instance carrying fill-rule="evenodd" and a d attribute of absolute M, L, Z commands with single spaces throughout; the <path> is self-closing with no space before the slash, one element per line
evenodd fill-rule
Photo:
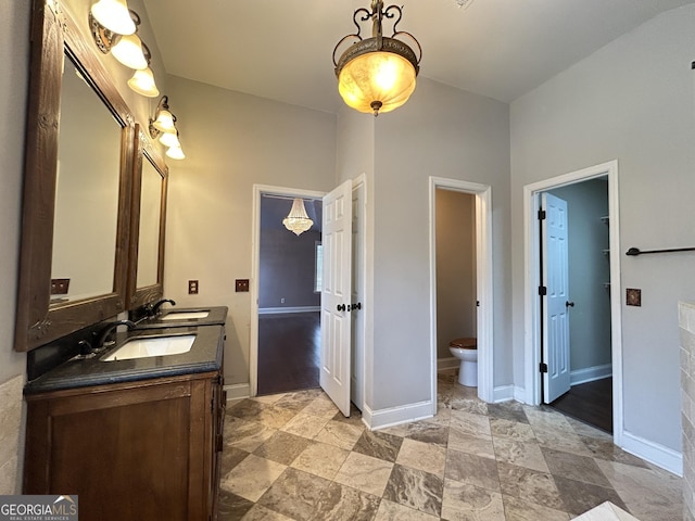
<path fill-rule="evenodd" d="M 541 396 L 541 306 L 538 288 L 540 276 L 540 231 L 536 211 L 540 193 L 577 182 L 606 177 L 608 179 L 609 263 L 610 263 L 610 345 L 612 363 L 614 443 L 621 445 L 623 434 L 622 396 L 622 330 L 620 295 L 620 221 L 618 192 L 618 161 L 609 161 L 538 181 L 523 187 L 523 250 L 525 250 L 525 402 L 540 405 Z"/>

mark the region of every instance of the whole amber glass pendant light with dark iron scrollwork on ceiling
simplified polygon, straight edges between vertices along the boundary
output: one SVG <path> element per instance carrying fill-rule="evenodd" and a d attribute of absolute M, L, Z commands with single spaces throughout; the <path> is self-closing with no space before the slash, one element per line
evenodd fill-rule
<path fill-rule="evenodd" d="M 390 112 L 404 104 L 415 90 L 415 78 L 419 72 L 422 49 L 409 33 L 396 30 L 403 12 L 397 5 L 383 9 L 382 0 L 371 1 L 371 11 L 356 10 L 353 22 L 357 33 L 343 37 L 333 49 L 333 65 L 338 77 L 338 90 L 343 101 L 359 112 Z M 397 17 L 396 17 L 397 16 Z M 382 35 L 383 18 L 396 18 L 393 35 Z M 371 18 L 371 38 L 359 36 L 359 23 Z M 413 41 L 417 54 L 400 38 Z M 353 43 L 336 60 L 338 49 L 350 40 Z"/>

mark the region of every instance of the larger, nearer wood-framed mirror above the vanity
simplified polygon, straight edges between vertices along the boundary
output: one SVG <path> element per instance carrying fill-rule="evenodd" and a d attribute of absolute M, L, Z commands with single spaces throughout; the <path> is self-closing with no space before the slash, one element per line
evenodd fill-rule
<path fill-rule="evenodd" d="M 16 351 L 126 308 L 135 124 L 92 47 L 35 0 Z"/>

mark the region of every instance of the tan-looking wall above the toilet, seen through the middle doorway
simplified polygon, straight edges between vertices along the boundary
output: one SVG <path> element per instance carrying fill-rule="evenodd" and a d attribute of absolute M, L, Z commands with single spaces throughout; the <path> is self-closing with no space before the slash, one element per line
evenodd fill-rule
<path fill-rule="evenodd" d="M 437 189 L 437 358 L 476 333 L 476 198 Z"/>

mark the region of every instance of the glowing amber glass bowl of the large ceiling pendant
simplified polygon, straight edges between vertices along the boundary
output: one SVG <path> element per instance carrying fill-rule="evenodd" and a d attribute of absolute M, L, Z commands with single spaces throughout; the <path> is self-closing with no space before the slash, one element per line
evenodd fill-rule
<path fill-rule="evenodd" d="M 417 72 L 405 58 L 375 51 L 348 62 L 338 76 L 343 101 L 359 112 L 390 112 L 415 91 Z"/>

